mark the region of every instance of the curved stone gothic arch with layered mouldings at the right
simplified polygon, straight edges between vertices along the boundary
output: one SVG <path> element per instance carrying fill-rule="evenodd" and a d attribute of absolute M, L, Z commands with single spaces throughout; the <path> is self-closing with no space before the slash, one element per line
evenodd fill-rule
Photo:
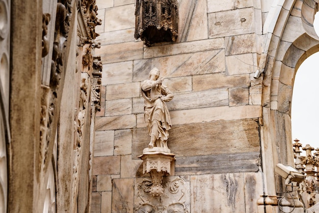
<path fill-rule="evenodd" d="M 274 174 L 276 164 L 294 165 L 291 99 L 298 67 L 319 50 L 319 37 L 313 29 L 318 2 L 274 1 L 263 25 L 260 143 L 264 193 L 268 195 L 276 195 L 282 188 L 281 177 Z M 277 200 L 270 200 L 269 204 L 276 205 Z"/>

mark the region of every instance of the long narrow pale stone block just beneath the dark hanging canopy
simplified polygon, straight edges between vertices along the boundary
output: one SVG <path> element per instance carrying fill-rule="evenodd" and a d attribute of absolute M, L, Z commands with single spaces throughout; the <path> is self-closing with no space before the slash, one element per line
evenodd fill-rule
<path fill-rule="evenodd" d="M 174 43 L 162 46 L 153 46 L 144 50 L 144 58 L 156 58 L 163 56 L 196 53 L 224 48 L 222 39 L 206 39 L 184 43 Z"/>

